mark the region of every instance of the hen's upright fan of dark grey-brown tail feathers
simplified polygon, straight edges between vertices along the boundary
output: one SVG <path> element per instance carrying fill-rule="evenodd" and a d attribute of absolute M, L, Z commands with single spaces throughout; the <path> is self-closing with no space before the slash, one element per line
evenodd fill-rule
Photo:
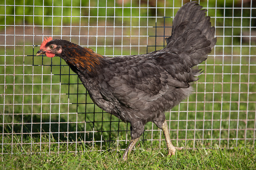
<path fill-rule="evenodd" d="M 165 39 L 165 50 L 189 57 L 192 67 L 205 61 L 216 44 L 215 28 L 202 8 L 197 2 L 181 7 L 174 18 L 172 36 Z"/>

